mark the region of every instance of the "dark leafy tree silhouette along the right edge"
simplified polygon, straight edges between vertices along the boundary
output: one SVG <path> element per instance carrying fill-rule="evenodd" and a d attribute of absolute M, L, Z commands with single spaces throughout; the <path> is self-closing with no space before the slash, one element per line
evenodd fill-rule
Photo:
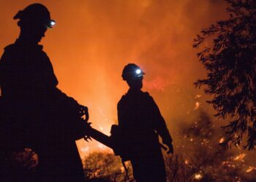
<path fill-rule="evenodd" d="M 207 70 L 206 79 L 195 86 L 206 86 L 216 116 L 232 119 L 223 127 L 226 141 L 240 145 L 247 135 L 245 148 L 250 150 L 256 145 L 256 1 L 226 1 L 227 20 L 203 29 L 194 39 L 194 48 L 204 47 L 197 56 Z"/>

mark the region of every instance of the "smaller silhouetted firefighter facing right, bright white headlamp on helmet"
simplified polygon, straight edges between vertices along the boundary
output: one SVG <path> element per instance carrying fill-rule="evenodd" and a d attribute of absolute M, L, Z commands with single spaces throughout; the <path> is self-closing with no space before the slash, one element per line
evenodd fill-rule
<path fill-rule="evenodd" d="M 115 145 L 117 150 L 118 146 L 121 147 L 116 153 L 120 152 L 124 160 L 132 162 L 136 181 L 166 181 L 158 135 L 168 146 L 168 154 L 173 153 L 172 138 L 157 104 L 148 92 L 141 91 L 143 75 L 143 71 L 133 63 L 124 67 L 122 77 L 127 81 L 129 90 L 118 102 L 119 134 L 115 135 L 120 140 L 116 138 Z"/>

